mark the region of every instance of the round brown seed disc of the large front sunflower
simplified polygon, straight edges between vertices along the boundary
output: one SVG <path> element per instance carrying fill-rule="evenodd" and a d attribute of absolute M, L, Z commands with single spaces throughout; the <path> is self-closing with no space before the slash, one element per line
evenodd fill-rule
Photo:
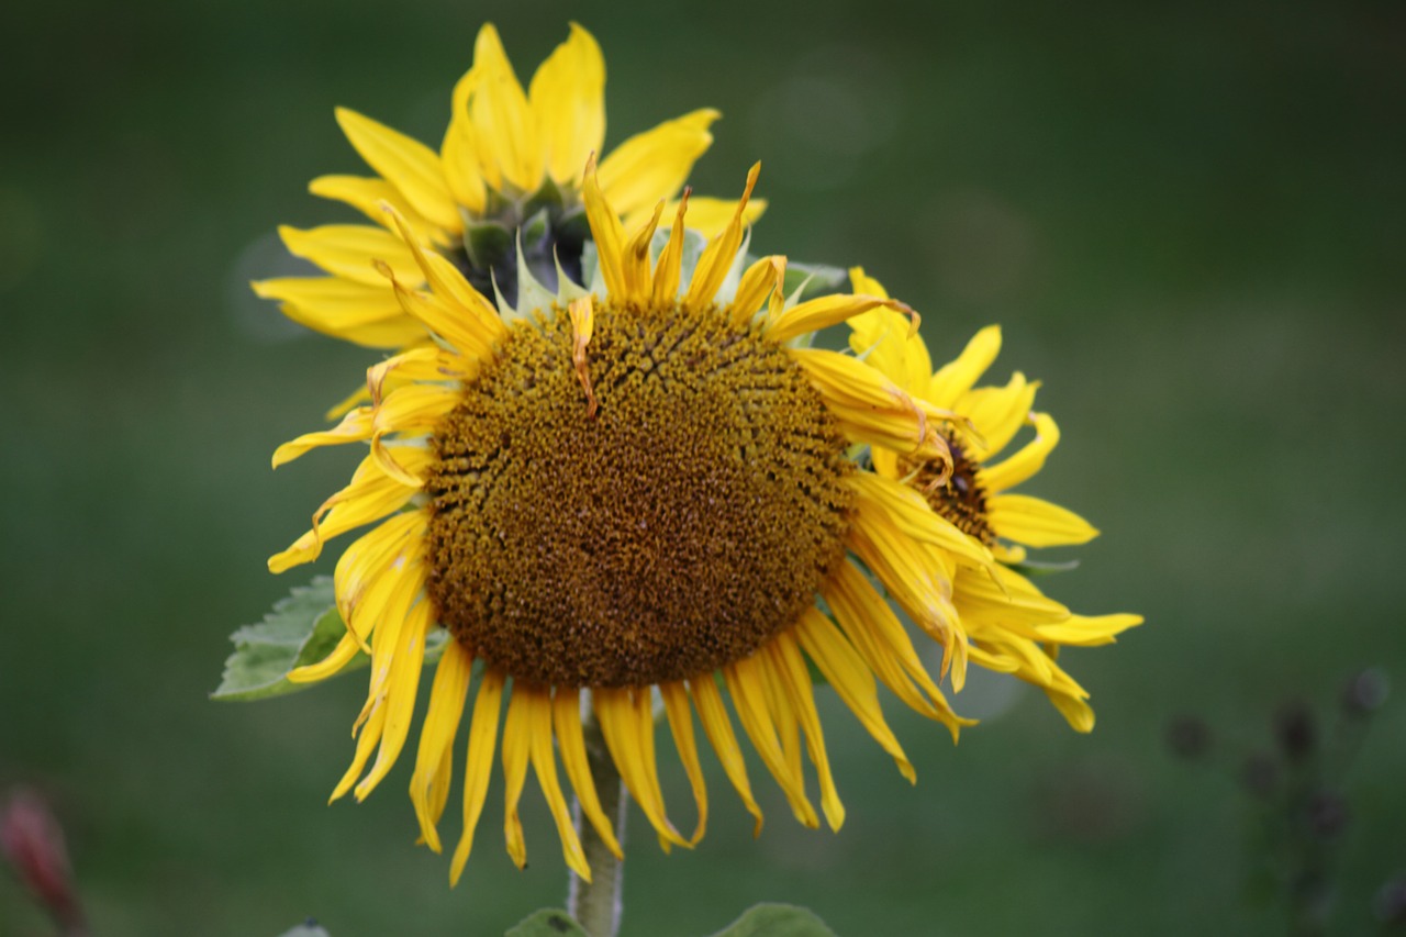
<path fill-rule="evenodd" d="M 697 677 L 793 625 L 844 556 L 846 440 L 792 359 L 717 310 L 519 324 L 434 432 L 429 594 L 515 678 Z"/>

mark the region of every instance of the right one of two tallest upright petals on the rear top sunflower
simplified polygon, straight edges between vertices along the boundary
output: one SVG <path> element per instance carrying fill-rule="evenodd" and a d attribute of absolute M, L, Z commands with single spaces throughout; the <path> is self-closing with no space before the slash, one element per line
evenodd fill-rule
<path fill-rule="evenodd" d="M 537 66 L 527 97 L 547 172 L 576 183 L 586 156 L 600 152 L 606 135 L 606 62 L 595 37 L 571 24 L 571 35 Z"/>

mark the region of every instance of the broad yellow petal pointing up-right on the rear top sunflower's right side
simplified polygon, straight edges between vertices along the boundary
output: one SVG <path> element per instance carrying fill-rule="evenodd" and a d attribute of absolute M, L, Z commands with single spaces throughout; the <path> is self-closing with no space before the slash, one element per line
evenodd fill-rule
<path fill-rule="evenodd" d="M 600 163 L 600 189 L 621 215 L 672 198 L 695 160 L 713 144 L 709 127 L 721 114 L 703 108 L 624 141 Z"/>

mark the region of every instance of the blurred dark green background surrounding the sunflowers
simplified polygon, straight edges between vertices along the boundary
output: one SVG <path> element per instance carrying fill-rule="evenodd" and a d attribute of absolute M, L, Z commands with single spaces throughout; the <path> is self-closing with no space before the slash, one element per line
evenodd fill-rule
<path fill-rule="evenodd" d="M 298 581 L 264 557 L 353 464 L 269 470 L 371 356 L 246 286 L 291 269 L 277 224 L 350 219 L 305 193 L 363 172 L 333 106 L 437 142 L 482 21 L 526 79 L 568 18 L 606 52 L 607 146 L 718 107 L 693 183 L 731 194 L 763 162 L 754 249 L 863 263 L 935 356 L 1004 325 L 997 376 L 1045 381 L 1064 429 L 1035 491 L 1104 530 L 1050 588 L 1149 619 L 1069 654 L 1088 737 L 998 681 L 957 698 L 988 716 L 959 748 L 890 699 L 917 788 L 827 698 L 842 833 L 797 827 L 754 763 L 754 841 L 713 771 L 696 851 L 665 858 L 636 817 L 624 933 L 707 933 L 762 899 L 842 934 L 1282 933 L 1244 900 L 1240 761 L 1272 753 L 1286 698 L 1329 734 L 1351 673 L 1406 681 L 1399 3 L 7 7 L 0 796 L 52 801 L 94 930 L 494 934 L 561 903 L 533 791 L 531 865 L 501 847 L 495 781 L 453 892 L 413 847 L 409 765 L 323 806 L 361 678 L 205 695 L 228 633 Z M 1181 713 L 1216 767 L 1168 753 Z M 1336 933 L 1371 930 L 1406 868 L 1403 740 L 1398 696 L 1336 781 Z M 46 933 L 6 877 L 0 933 Z"/>

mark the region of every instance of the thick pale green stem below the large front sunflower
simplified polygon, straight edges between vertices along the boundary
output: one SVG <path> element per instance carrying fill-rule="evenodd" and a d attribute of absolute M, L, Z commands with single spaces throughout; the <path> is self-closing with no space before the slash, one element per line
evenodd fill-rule
<path fill-rule="evenodd" d="M 624 816 L 628 806 L 628 795 L 620 781 L 620 771 L 616 768 L 606 740 L 600 734 L 600 726 L 595 715 L 585 715 L 586 758 L 591 763 L 591 777 L 596 782 L 596 795 L 600 806 L 607 812 L 614 810 L 616 839 L 624 844 Z M 586 882 L 575 872 L 571 872 L 571 891 L 567 895 L 567 910 L 586 929 L 591 937 L 616 937 L 620 930 L 620 886 L 624 882 L 620 860 L 614 857 L 610 847 L 605 844 L 600 834 L 585 817 L 579 801 L 574 805 L 576 820 L 576 834 L 581 837 L 581 847 L 586 853 L 586 864 L 591 867 L 591 881 Z"/>

